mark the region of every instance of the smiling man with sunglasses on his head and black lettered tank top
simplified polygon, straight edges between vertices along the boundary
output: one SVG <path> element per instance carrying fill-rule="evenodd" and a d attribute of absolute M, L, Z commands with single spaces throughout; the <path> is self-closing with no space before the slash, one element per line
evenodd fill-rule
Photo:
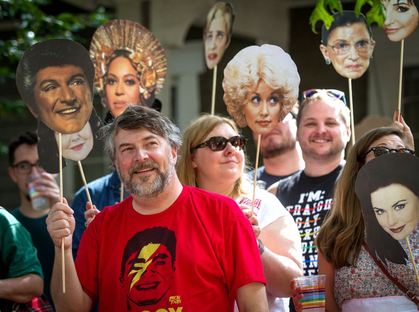
<path fill-rule="evenodd" d="M 297 115 L 297 140 L 305 169 L 273 184 L 269 192 L 294 217 L 300 230 L 304 275 L 316 275 L 316 231 L 331 209 L 333 188 L 344 166 L 350 138 L 349 109 L 338 90 L 307 90 Z"/>

